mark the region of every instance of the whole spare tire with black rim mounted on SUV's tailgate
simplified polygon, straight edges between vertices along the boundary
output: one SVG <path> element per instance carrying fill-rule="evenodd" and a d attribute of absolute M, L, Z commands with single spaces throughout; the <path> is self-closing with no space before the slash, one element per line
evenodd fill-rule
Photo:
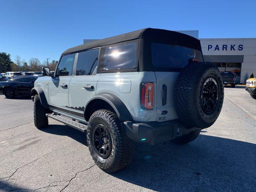
<path fill-rule="evenodd" d="M 222 77 L 209 62 L 189 62 L 176 81 L 174 101 L 186 128 L 210 127 L 218 118 L 224 99 Z"/>

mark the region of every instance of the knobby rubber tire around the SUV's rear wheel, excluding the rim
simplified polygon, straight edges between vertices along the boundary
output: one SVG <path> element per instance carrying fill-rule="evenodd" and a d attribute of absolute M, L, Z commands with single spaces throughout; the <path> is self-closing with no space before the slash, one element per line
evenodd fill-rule
<path fill-rule="evenodd" d="M 107 158 L 102 158 L 94 146 L 93 131 L 96 125 L 104 125 L 111 137 L 112 150 Z M 108 110 L 97 110 L 89 120 L 87 128 L 87 144 L 92 159 L 105 172 L 115 172 L 127 166 L 133 158 L 134 142 L 122 130 L 118 116 Z"/>

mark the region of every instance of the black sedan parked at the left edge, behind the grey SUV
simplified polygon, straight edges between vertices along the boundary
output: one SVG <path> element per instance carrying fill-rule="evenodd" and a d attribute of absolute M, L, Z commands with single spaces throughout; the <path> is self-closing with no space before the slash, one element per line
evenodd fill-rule
<path fill-rule="evenodd" d="M 9 99 L 18 95 L 30 96 L 31 89 L 34 87 L 34 82 L 37 78 L 38 76 L 28 76 L 0 82 L 0 93 Z"/>

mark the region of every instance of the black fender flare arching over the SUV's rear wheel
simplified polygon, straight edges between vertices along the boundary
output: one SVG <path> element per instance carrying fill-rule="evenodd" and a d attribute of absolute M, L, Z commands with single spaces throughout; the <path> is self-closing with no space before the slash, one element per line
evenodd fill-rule
<path fill-rule="evenodd" d="M 107 93 L 96 95 L 87 102 L 84 108 L 84 118 L 86 121 L 89 120 L 91 108 L 97 100 L 107 102 L 114 109 L 120 121 L 133 121 L 133 118 L 125 104 L 116 96 Z"/>

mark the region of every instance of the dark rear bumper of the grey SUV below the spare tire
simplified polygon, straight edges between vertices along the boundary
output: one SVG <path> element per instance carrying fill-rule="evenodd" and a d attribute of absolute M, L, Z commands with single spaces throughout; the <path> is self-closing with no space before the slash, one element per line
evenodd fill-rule
<path fill-rule="evenodd" d="M 122 127 L 126 135 L 134 142 L 152 145 L 172 140 L 194 130 L 200 130 L 200 128 L 187 129 L 177 120 L 147 123 L 125 121 L 122 123 Z"/>

